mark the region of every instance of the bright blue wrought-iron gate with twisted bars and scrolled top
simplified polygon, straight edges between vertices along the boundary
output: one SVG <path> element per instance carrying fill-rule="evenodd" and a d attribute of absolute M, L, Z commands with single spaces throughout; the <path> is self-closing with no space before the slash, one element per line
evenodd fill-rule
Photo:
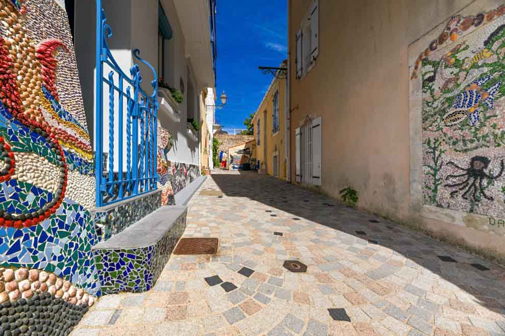
<path fill-rule="evenodd" d="M 105 23 L 102 0 L 96 0 L 96 18 L 95 177 L 96 206 L 101 207 L 156 189 L 159 105 L 156 71 L 140 58 L 140 51 L 135 49 L 133 56 L 154 74 L 151 82 L 153 93 L 150 95 L 140 87 L 142 77 L 139 66 L 131 67 L 128 76 L 112 57 L 107 43 L 107 39 L 112 37 L 112 30 Z M 107 76 L 104 76 L 104 66 L 110 69 Z M 107 92 L 104 93 L 104 89 Z M 104 98 L 108 100 L 104 101 Z M 104 111 L 106 109 L 108 115 Z M 108 134 L 104 131 L 106 117 Z M 105 136 L 108 136 L 105 138 L 107 153 L 104 153 Z M 124 154 L 126 167 L 123 166 Z"/>

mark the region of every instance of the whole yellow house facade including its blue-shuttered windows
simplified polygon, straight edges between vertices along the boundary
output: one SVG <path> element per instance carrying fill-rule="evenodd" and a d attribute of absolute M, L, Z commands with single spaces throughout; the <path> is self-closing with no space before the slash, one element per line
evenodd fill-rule
<path fill-rule="evenodd" d="M 286 61 L 282 67 L 286 66 Z M 286 79 L 274 77 L 253 118 L 260 173 L 286 180 Z M 251 161 L 252 161 L 251 159 Z"/>

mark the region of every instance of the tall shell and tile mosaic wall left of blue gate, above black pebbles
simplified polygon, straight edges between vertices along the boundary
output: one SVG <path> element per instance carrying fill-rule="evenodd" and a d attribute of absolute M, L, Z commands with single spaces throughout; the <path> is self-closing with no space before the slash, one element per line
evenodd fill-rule
<path fill-rule="evenodd" d="M 54 0 L 0 0 L 1 304 L 40 292 L 37 302 L 63 312 L 61 300 L 100 295 L 93 167 L 65 10 Z M 11 269 L 30 278 L 16 276 L 15 289 Z M 40 279 L 47 274 L 54 284 Z"/>

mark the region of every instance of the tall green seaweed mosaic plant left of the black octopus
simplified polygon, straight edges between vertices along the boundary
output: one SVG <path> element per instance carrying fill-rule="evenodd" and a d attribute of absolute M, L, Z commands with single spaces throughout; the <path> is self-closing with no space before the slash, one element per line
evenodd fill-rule
<path fill-rule="evenodd" d="M 437 200 L 438 196 L 438 188 L 442 184 L 442 181 L 438 177 L 440 171 L 442 170 L 442 165 L 444 162 L 441 160 L 441 156 L 443 153 L 445 153 L 445 150 L 441 148 L 442 142 L 440 139 L 434 139 L 432 141 L 431 138 L 427 138 L 426 141 L 424 142 L 424 145 L 426 146 L 426 155 L 428 155 L 431 158 L 432 164 L 425 164 L 424 167 L 426 167 L 426 170 L 424 172 L 425 176 L 430 176 L 433 179 L 432 185 L 427 183 L 425 180 L 424 182 L 424 187 L 427 190 L 431 191 L 430 195 L 425 195 L 425 201 L 427 201 L 430 204 L 434 204 L 436 206 L 441 206 L 441 204 Z"/>

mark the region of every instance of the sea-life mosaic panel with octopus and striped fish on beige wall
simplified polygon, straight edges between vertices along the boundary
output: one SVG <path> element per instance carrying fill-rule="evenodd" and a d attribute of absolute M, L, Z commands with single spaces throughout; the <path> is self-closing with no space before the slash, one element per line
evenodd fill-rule
<path fill-rule="evenodd" d="M 505 5 L 452 17 L 418 71 L 424 204 L 505 218 Z"/>

